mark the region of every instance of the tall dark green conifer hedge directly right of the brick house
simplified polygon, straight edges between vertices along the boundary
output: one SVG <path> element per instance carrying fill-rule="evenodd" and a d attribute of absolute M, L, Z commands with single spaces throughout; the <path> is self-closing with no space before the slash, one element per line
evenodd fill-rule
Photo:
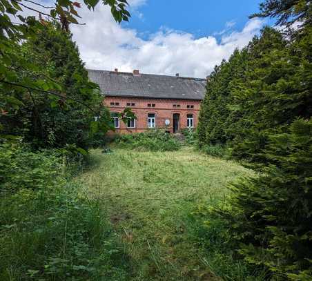
<path fill-rule="evenodd" d="M 312 113 L 311 32 L 287 41 L 264 28 L 211 74 L 199 115 L 199 145 L 228 144 L 233 157 L 268 162 L 269 136 Z"/>

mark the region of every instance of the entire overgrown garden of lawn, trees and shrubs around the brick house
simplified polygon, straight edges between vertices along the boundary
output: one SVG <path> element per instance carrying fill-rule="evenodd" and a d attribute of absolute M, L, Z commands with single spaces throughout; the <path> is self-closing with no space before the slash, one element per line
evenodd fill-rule
<path fill-rule="evenodd" d="M 161 130 L 90 155 L 113 122 L 71 39 L 80 6 L 0 0 L 0 280 L 311 280 L 311 1 L 260 4 L 279 28 L 215 67 L 184 132 L 255 173 Z"/>

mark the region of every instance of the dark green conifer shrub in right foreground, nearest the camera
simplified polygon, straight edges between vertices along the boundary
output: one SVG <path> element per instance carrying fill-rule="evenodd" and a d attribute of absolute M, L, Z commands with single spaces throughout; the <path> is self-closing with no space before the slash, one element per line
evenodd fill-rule
<path fill-rule="evenodd" d="M 274 278 L 311 280 L 312 119 L 272 136 L 266 153 L 275 164 L 234 183 L 228 205 L 216 213 L 246 261 L 269 268 Z"/>

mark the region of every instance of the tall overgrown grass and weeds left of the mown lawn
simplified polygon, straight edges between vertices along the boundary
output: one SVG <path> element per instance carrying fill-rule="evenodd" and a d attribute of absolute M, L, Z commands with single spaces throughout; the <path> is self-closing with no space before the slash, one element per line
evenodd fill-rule
<path fill-rule="evenodd" d="M 54 151 L 0 149 L 0 280 L 126 280 L 126 257 L 98 198 Z M 4 173 L 3 173 L 4 172 Z"/>

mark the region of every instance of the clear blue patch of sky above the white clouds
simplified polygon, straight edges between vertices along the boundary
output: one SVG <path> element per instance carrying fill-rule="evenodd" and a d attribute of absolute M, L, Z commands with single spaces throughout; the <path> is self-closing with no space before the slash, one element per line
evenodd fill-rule
<path fill-rule="evenodd" d="M 199 38 L 224 30 L 226 23 L 244 28 L 248 16 L 259 10 L 260 0 L 147 0 L 132 10 L 133 17 L 123 26 L 134 28 L 146 38 L 159 28 L 189 32 Z"/>

